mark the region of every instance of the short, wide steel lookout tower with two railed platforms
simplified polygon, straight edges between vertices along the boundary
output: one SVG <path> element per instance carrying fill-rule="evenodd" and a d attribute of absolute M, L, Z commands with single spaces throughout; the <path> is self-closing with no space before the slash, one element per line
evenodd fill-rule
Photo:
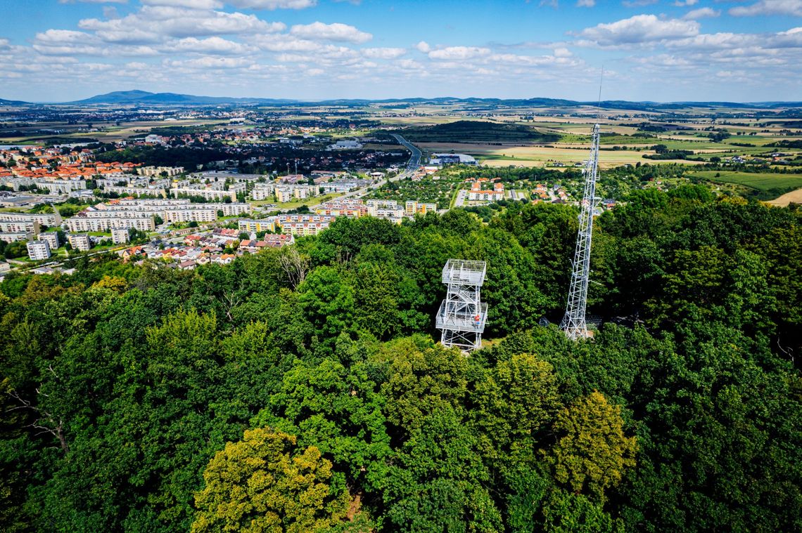
<path fill-rule="evenodd" d="M 488 317 L 488 304 L 481 301 L 481 288 L 487 265 L 484 261 L 448 259 L 443 267 L 446 299 L 437 311 L 436 326 L 443 332 L 440 342 L 465 351 L 482 346 L 482 333 Z"/>

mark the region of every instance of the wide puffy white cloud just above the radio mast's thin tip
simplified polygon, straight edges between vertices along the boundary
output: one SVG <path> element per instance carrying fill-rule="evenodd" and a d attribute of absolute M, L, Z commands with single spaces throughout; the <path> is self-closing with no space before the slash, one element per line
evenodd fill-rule
<path fill-rule="evenodd" d="M 579 35 L 599 46 L 621 46 L 667 38 L 692 37 L 699 34 L 699 22 L 676 18 L 661 20 L 652 14 L 640 14 L 609 24 L 585 28 Z"/>

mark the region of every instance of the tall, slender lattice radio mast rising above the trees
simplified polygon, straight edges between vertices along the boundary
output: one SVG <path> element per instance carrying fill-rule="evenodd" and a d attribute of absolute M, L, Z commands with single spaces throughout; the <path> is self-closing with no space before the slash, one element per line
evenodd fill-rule
<path fill-rule="evenodd" d="M 577 250 L 573 254 L 571 287 L 568 291 L 568 303 L 565 316 L 560 327 L 569 339 L 587 337 L 588 326 L 585 322 L 585 308 L 588 303 L 588 283 L 590 279 L 590 240 L 593 237 L 593 210 L 596 208 L 596 177 L 599 161 L 599 125 L 593 126 L 590 158 L 585 162 L 582 175 L 585 178 L 585 193 L 582 195 L 579 213 L 579 232 L 577 234 Z"/>

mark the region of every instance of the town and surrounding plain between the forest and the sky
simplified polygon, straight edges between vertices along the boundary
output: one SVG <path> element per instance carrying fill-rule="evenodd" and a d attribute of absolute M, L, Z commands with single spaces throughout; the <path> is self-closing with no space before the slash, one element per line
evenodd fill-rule
<path fill-rule="evenodd" d="M 632 190 L 683 183 L 802 201 L 793 103 L 209 105 L 137 92 L 0 102 L 0 276 L 69 274 L 76 258 L 103 253 L 181 270 L 225 264 L 337 217 L 402 223 L 462 207 L 488 221 L 512 202 L 578 205 L 594 122 L 597 214 Z"/>

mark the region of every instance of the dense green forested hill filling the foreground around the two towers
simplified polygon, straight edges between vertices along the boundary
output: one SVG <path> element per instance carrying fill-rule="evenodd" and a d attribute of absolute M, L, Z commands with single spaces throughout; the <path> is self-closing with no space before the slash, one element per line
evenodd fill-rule
<path fill-rule="evenodd" d="M 579 343 L 537 325 L 567 206 L 9 275 L 2 530 L 800 531 L 800 222 L 639 191 L 597 219 Z M 431 337 L 452 257 L 488 261 L 470 357 Z"/>

